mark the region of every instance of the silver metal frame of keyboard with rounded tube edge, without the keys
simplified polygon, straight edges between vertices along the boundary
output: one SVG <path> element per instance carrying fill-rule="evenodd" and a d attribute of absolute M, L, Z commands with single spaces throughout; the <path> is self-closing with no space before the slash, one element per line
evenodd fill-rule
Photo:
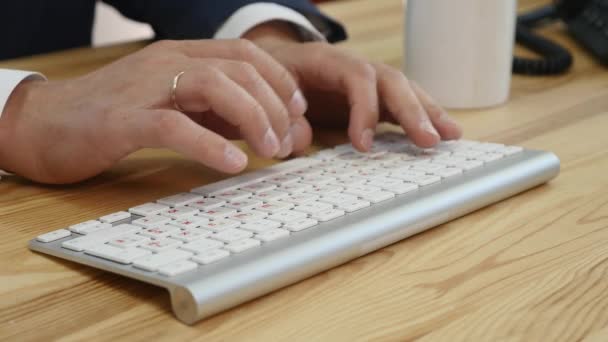
<path fill-rule="evenodd" d="M 280 170 L 280 165 L 262 172 Z M 559 169 L 560 161 L 553 153 L 524 150 L 463 175 L 293 233 L 287 239 L 263 244 L 170 278 L 61 247 L 62 242 L 75 235 L 51 243 L 40 243 L 34 239 L 29 247 L 34 251 L 164 287 L 170 293 L 177 318 L 186 324 L 193 324 L 543 184 L 556 177 Z M 255 178 L 254 175 L 245 175 L 245 178 Z M 221 184 L 236 184 L 240 178 L 228 179 Z M 133 219 L 137 218 L 135 216 Z"/>

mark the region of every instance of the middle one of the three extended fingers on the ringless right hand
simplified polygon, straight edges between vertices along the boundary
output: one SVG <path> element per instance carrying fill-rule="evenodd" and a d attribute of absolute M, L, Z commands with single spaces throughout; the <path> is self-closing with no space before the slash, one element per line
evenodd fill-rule
<path fill-rule="evenodd" d="M 377 64 L 376 69 L 378 92 L 386 109 L 416 145 L 435 146 L 440 140 L 439 133 L 405 75 L 383 64 Z"/>

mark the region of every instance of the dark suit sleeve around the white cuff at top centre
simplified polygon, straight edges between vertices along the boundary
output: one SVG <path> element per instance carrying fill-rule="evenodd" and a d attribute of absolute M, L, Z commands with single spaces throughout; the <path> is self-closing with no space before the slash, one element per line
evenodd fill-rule
<path fill-rule="evenodd" d="M 308 0 L 104 0 L 124 16 L 149 23 L 158 39 L 212 38 L 239 8 L 256 2 L 272 2 L 296 10 L 328 28 L 330 42 L 346 39 L 344 28 L 323 15 Z"/>

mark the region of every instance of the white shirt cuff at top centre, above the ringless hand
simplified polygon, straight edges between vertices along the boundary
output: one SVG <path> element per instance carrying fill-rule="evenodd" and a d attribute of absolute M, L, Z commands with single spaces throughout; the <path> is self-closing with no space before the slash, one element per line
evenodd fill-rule
<path fill-rule="evenodd" d="M 325 41 L 325 36 L 310 20 L 291 8 L 269 2 L 241 7 L 215 33 L 215 39 L 241 38 L 252 28 L 269 21 L 286 21 L 298 30 L 304 41 Z"/>

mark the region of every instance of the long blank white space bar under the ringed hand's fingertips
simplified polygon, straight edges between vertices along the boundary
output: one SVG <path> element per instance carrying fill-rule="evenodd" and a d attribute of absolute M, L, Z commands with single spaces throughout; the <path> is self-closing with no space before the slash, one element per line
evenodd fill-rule
<path fill-rule="evenodd" d="M 190 191 L 195 192 L 197 194 L 210 196 L 218 191 L 225 191 L 237 187 L 242 187 L 256 181 L 261 181 L 264 178 L 275 176 L 281 173 L 295 171 L 298 169 L 303 169 L 305 167 L 312 166 L 318 163 L 320 163 L 320 160 L 313 158 L 295 158 L 292 160 L 275 164 L 268 168 L 249 172 L 243 175 L 225 179 L 223 181 L 194 188 Z"/>

